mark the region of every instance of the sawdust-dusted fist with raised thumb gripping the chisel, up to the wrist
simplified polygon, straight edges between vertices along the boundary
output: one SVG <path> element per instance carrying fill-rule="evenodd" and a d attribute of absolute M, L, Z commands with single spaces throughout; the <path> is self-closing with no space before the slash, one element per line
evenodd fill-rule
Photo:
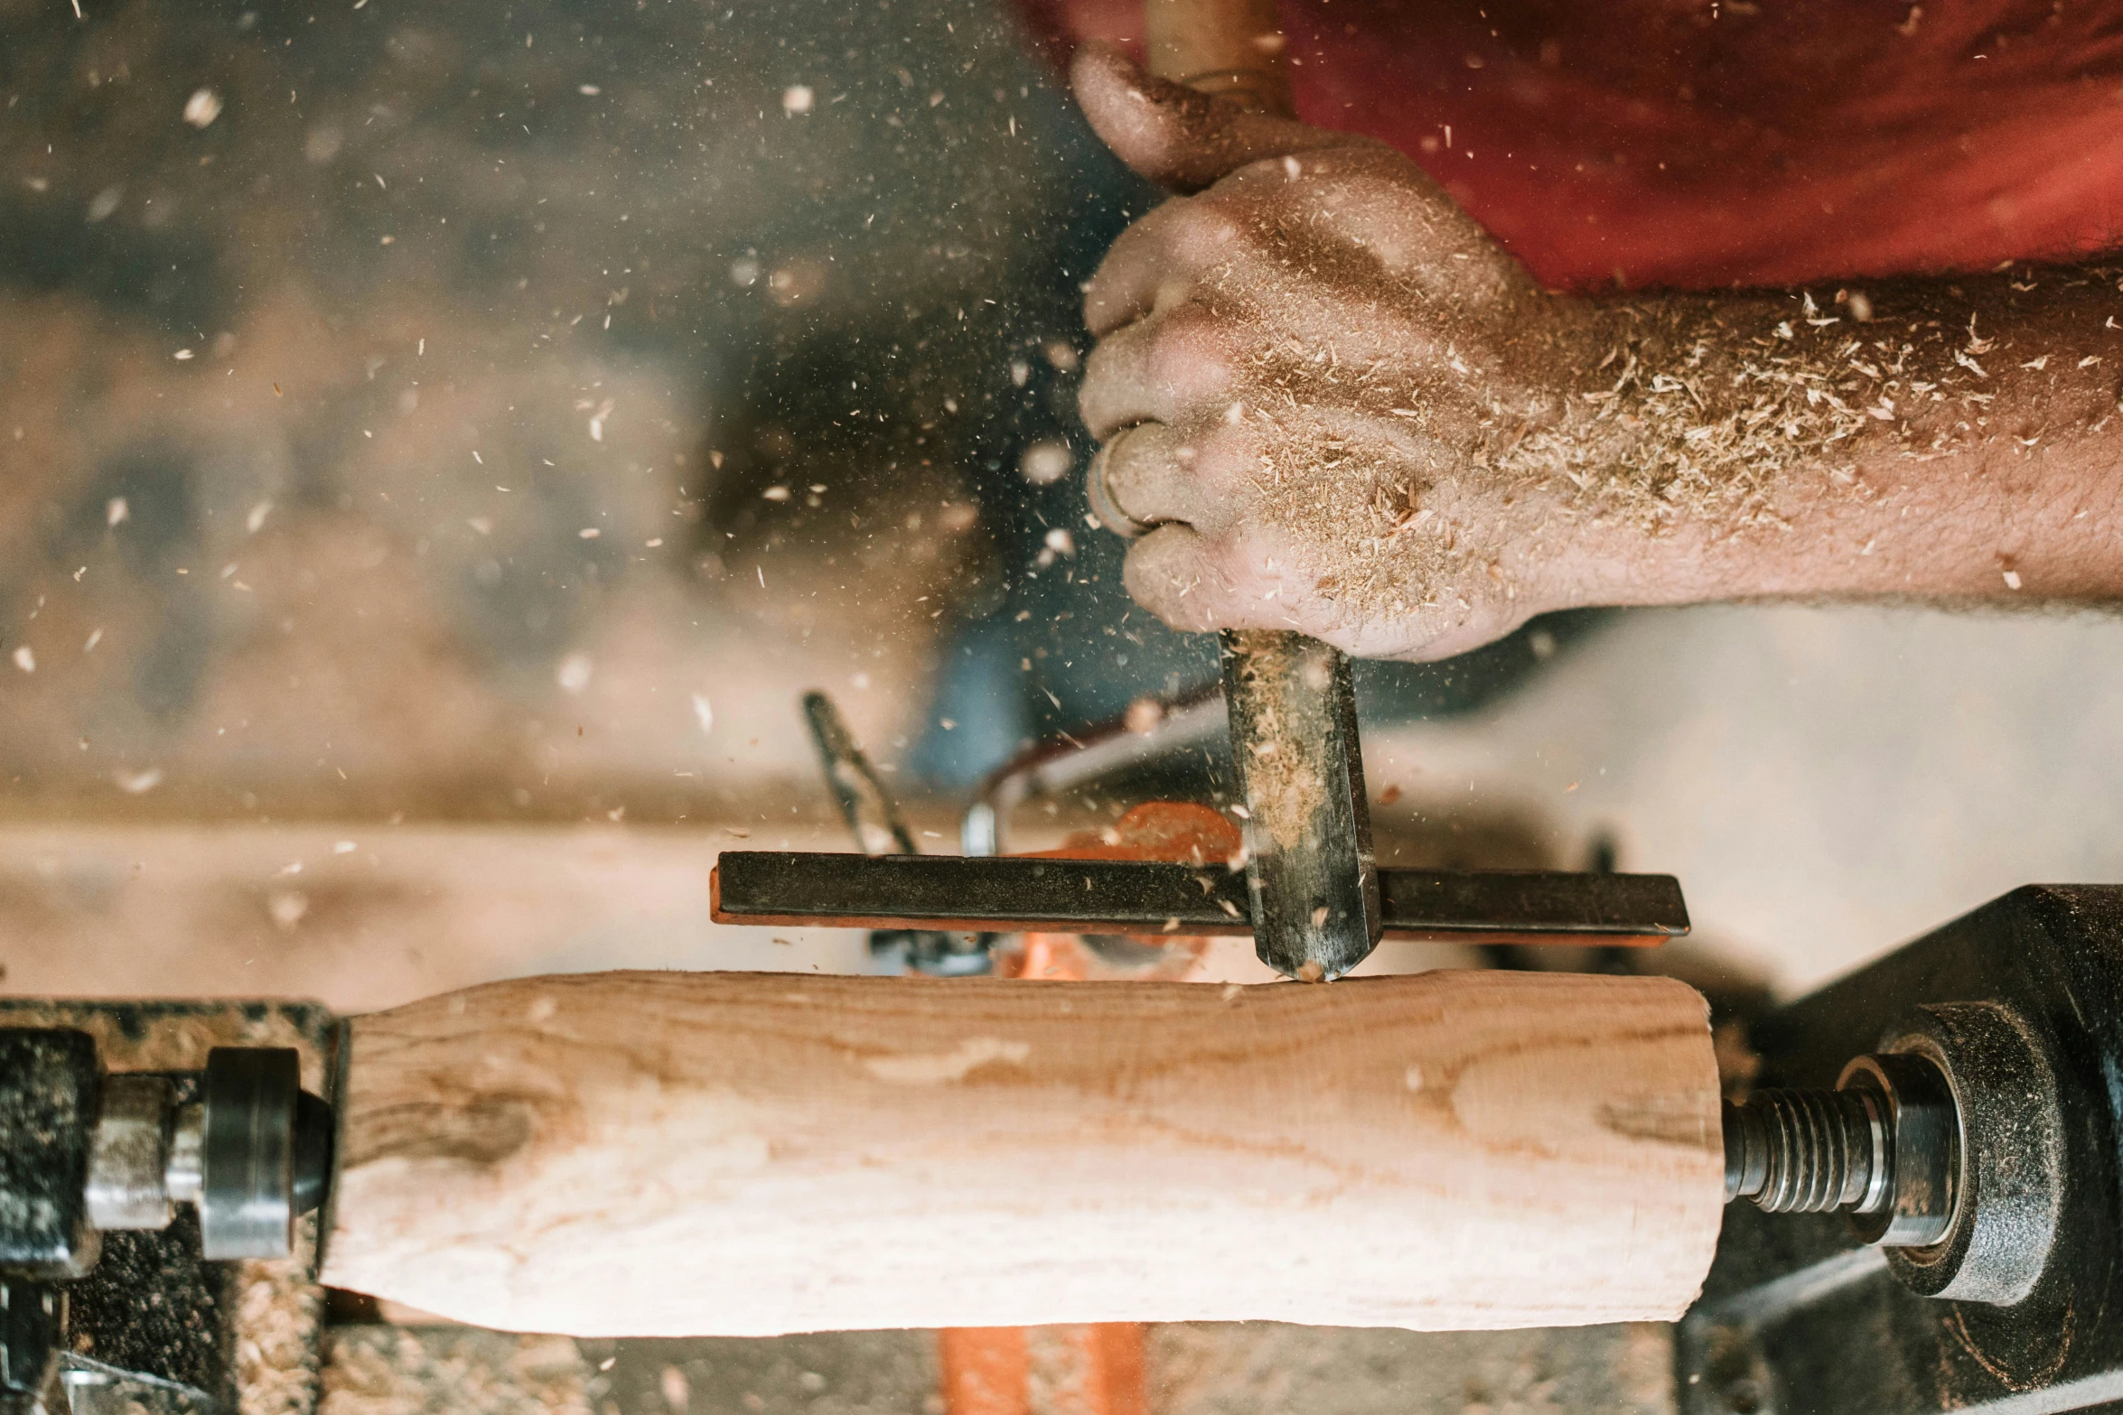
<path fill-rule="evenodd" d="M 1558 422 L 1601 320 L 1524 276 L 1412 161 L 1087 47 L 1093 127 L 1178 191 L 1115 244 L 1083 416 L 1151 530 L 1127 588 L 1178 628 L 1365 656 L 1471 649 L 1552 605 L 1539 496 L 1499 456 Z"/>

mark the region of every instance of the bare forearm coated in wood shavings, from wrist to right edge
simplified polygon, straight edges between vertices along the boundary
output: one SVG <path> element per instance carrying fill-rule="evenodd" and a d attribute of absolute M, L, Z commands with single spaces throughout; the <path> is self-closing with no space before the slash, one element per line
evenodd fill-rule
<path fill-rule="evenodd" d="M 1552 596 L 2123 598 L 2115 280 L 1605 305 L 1560 422 L 1505 458 L 1571 522 Z"/>

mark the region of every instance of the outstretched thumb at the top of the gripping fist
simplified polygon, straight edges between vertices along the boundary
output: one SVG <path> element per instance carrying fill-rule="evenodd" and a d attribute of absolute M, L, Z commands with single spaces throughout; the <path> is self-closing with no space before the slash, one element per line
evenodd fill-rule
<path fill-rule="evenodd" d="M 1202 191 L 1263 157 L 1365 142 L 1153 78 L 1102 40 L 1076 51 L 1070 87 L 1106 146 L 1170 191 Z"/>

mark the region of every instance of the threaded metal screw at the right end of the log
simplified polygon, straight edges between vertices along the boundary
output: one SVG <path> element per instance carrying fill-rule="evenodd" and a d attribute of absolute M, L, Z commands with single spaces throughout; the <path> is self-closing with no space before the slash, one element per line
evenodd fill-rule
<path fill-rule="evenodd" d="M 1887 1118 L 1864 1090 L 1758 1090 L 1724 1103 L 1726 1203 L 1868 1213 L 1892 1192 Z"/>

